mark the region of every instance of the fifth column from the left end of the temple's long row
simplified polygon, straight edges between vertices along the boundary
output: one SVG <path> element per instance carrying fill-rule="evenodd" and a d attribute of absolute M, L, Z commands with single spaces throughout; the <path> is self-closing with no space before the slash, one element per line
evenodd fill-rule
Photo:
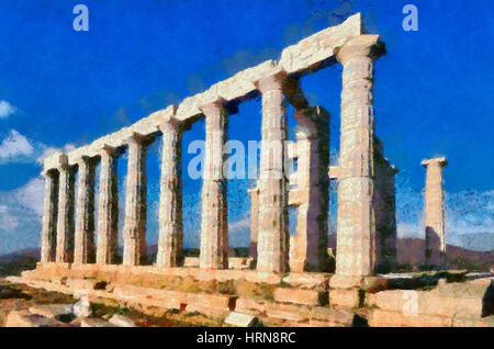
<path fill-rule="evenodd" d="M 125 266 L 146 263 L 146 138 L 136 133 L 127 140 L 128 164 L 123 228 Z"/>

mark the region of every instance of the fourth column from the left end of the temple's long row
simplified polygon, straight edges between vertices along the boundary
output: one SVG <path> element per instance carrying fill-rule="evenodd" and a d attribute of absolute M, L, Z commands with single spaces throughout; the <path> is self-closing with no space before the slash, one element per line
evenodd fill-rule
<path fill-rule="evenodd" d="M 114 264 L 119 236 L 119 179 L 115 148 L 105 146 L 100 151 L 100 195 L 98 202 L 98 264 Z"/>

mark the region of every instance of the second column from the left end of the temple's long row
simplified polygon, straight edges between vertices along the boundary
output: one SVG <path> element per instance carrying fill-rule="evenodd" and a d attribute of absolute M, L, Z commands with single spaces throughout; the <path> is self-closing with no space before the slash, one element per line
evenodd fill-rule
<path fill-rule="evenodd" d="M 68 157 L 61 154 L 58 166 L 58 218 L 56 262 L 74 260 L 74 171 L 68 165 Z"/>

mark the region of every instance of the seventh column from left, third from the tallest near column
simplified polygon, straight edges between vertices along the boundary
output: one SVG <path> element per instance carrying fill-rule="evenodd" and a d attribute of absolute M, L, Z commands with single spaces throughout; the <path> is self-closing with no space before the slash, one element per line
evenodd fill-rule
<path fill-rule="evenodd" d="M 228 113 L 222 101 L 201 108 L 205 116 L 205 157 L 202 183 L 201 254 L 202 269 L 228 268 L 228 223 L 226 179 L 227 155 L 223 151 L 228 130 Z"/>

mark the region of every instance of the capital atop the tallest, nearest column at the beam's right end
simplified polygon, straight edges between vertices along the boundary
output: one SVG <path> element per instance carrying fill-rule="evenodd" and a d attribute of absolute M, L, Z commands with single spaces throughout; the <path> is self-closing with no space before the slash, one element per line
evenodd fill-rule
<path fill-rule="evenodd" d="M 385 46 L 379 41 L 379 35 L 359 35 L 350 38 L 334 50 L 336 59 L 345 65 L 355 57 L 377 59 L 385 54 Z"/>

